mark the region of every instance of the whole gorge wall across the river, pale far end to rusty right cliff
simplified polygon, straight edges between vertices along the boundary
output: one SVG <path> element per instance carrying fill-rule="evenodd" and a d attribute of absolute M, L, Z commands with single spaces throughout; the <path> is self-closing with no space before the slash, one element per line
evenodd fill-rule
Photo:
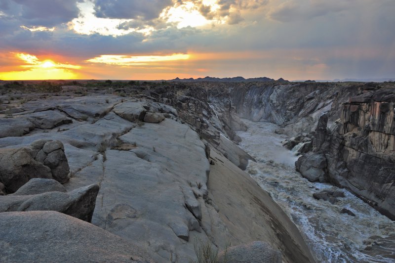
<path fill-rule="evenodd" d="M 394 220 L 394 86 L 238 84 L 209 93 L 216 104 L 241 118 L 276 123 L 282 127 L 276 132 L 311 138 L 311 151 L 296 162 L 303 176 L 350 189 Z"/>

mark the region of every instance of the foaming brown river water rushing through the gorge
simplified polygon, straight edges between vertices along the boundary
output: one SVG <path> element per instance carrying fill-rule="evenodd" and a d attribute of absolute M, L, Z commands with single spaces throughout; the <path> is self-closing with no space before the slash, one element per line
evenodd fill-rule
<path fill-rule="evenodd" d="M 331 204 L 313 198 L 313 193 L 339 188 L 312 183 L 295 171 L 297 156 L 281 146 L 286 137 L 272 123 L 243 120 L 247 132 L 237 132 L 240 147 L 257 162 L 247 172 L 270 192 L 276 203 L 298 226 L 317 262 L 395 262 L 395 223 L 346 189 L 345 198 Z M 340 214 L 343 208 L 356 217 Z"/>

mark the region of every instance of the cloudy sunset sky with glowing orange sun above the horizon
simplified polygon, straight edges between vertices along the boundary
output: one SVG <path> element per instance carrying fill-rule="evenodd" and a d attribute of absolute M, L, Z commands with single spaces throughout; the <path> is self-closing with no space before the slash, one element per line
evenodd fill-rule
<path fill-rule="evenodd" d="M 395 0 L 0 0 L 0 80 L 395 78 Z"/>

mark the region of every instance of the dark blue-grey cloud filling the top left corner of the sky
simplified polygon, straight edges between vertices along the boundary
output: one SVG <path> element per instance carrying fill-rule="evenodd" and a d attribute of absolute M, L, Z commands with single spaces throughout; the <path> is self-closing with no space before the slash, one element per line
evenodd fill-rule
<path fill-rule="evenodd" d="M 16 24 L 53 27 L 78 17 L 79 0 L 0 0 L 0 11 Z"/>

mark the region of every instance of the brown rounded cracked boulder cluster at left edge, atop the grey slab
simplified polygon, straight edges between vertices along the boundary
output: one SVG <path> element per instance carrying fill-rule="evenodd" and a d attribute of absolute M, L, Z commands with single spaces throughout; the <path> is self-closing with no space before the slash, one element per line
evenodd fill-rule
<path fill-rule="evenodd" d="M 38 140 L 29 147 L 0 149 L 0 182 L 13 193 L 31 178 L 69 180 L 69 164 L 60 141 Z"/>

